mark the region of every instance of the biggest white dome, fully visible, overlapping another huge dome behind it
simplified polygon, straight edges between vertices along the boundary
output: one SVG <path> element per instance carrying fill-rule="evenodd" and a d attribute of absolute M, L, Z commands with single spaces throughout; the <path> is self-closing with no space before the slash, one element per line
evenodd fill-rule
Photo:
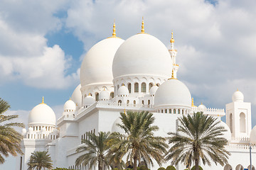
<path fill-rule="evenodd" d="M 120 45 L 113 60 L 114 79 L 129 75 L 171 77 L 171 56 L 166 46 L 152 35 L 141 33 Z"/>

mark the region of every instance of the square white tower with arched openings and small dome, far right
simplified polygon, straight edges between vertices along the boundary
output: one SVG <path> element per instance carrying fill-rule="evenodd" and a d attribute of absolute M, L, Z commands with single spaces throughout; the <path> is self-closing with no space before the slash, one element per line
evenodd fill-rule
<path fill-rule="evenodd" d="M 243 101 L 244 96 L 240 91 L 235 91 L 232 100 L 232 103 L 226 104 L 226 123 L 232 137 L 250 137 L 251 103 Z"/>

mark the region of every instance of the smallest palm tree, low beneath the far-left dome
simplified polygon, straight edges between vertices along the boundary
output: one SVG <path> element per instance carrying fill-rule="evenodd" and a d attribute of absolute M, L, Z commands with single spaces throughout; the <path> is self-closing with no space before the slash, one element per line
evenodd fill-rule
<path fill-rule="evenodd" d="M 28 161 L 28 170 L 43 168 L 53 169 L 52 160 L 50 159 L 50 154 L 48 151 L 35 151 L 31 154 L 31 157 Z"/>

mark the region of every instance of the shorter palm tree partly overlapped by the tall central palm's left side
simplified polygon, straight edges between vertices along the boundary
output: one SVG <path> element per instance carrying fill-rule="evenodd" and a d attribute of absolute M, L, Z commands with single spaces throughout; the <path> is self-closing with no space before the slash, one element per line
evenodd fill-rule
<path fill-rule="evenodd" d="M 98 135 L 88 133 L 87 135 L 88 140 L 82 140 L 85 144 L 76 149 L 76 152 L 85 151 L 86 153 L 75 160 L 75 165 L 86 166 L 88 164 L 91 169 L 93 165 L 97 164 L 98 170 L 102 170 L 105 166 L 109 166 L 107 142 L 110 140 L 110 132 L 99 132 Z"/>

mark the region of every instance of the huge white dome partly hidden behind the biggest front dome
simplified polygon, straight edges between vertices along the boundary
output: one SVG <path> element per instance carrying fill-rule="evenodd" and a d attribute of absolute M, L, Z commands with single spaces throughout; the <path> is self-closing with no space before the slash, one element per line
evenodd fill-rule
<path fill-rule="evenodd" d="M 97 42 L 85 55 L 80 68 L 80 83 L 112 84 L 112 62 L 118 47 L 124 42 L 121 38 L 107 38 Z"/>

